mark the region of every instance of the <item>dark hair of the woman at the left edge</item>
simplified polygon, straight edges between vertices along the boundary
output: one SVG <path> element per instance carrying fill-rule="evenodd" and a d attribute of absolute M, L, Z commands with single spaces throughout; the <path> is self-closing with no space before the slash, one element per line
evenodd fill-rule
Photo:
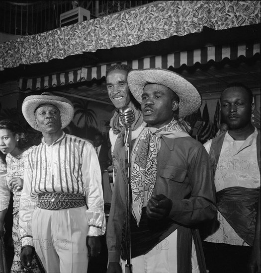
<path fill-rule="evenodd" d="M 0 129 L 7 129 L 13 134 L 13 136 L 15 135 L 19 136 L 19 140 L 17 141 L 17 148 L 19 150 L 23 150 L 31 146 L 28 143 L 27 131 L 23 127 L 21 127 L 19 124 L 11 120 L 1 120 Z"/>

